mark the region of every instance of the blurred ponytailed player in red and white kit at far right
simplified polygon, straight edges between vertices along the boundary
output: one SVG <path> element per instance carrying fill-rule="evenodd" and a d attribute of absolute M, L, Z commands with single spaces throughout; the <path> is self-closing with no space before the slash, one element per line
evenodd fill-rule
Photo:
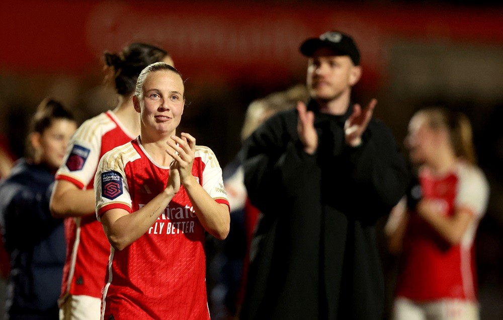
<path fill-rule="evenodd" d="M 393 319 L 478 319 L 473 242 L 489 188 L 470 122 L 441 108 L 418 111 L 406 145 L 418 184 L 386 225 L 391 251 L 402 252 Z"/>

